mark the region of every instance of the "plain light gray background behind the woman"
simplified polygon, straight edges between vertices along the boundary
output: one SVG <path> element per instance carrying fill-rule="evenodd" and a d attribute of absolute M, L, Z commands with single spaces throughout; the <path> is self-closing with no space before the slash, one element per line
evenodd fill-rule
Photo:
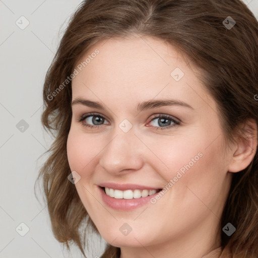
<path fill-rule="evenodd" d="M 244 2 L 258 18 L 258 0 Z M 39 156 L 52 142 L 40 123 L 43 80 L 67 22 L 80 3 L 0 0 L 0 257 L 3 258 L 81 257 L 75 246 L 69 253 L 53 237 L 40 191 L 37 191 L 40 203 L 34 195 L 38 170 L 45 160 Z M 20 28 L 27 22 L 21 16 L 29 22 L 25 29 Z M 26 228 L 21 223 L 29 228 L 24 236 L 20 234 Z M 89 257 L 100 256 L 104 247 L 103 240 L 96 236 L 93 239 L 97 241 Z"/>

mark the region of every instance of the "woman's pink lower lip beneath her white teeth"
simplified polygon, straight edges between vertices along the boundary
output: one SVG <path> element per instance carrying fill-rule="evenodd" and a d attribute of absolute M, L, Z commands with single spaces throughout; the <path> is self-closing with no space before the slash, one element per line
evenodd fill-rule
<path fill-rule="evenodd" d="M 152 196 L 141 197 L 137 199 L 115 199 L 113 197 L 106 195 L 105 191 L 101 187 L 98 186 L 98 188 L 100 189 L 103 202 L 110 208 L 120 211 L 130 211 L 142 207 L 148 202 L 150 202 L 150 200 L 159 193 L 156 192 Z"/>

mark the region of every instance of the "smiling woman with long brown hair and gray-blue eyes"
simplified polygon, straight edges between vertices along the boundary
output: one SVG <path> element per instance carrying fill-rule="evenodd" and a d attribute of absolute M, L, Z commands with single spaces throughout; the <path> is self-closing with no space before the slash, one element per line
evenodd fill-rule
<path fill-rule="evenodd" d="M 43 90 L 56 239 L 85 255 L 92 227 L 101 257 L 257 258 L 257 64 L 239 0 L 83 2 Z"/>

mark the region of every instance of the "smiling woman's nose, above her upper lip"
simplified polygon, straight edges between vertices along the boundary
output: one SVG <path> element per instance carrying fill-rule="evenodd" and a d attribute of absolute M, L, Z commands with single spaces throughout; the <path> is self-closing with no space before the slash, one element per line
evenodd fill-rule
<path fill-rule="evenodd" d="M 143 166 L 143 153 L 146 152 L 146 147 L 135 135 L 133 128 L 124 133 L 118 127 L 113 133 L 100 153 L 100 166 L 114 175 L 140 170 Z"/>

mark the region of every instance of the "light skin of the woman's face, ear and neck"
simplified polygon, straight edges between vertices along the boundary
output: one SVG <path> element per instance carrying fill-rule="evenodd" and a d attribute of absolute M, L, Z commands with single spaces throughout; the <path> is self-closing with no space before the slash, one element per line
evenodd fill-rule
<path fill-rule="evenodd" d="M 198 70 L 173 46 L 137 35 L 108 39 L 92 46 L 78 64 L 95 49 L 99 54 L 73 79 L 72 101 L 88 99 L 105 109 L 72 105 L 67 141 L 71 171 L 81 176 L 75 186 L 85 209 L 104 240 L 121 248 L 121 258 L 202 257 L 220 246 L 219 221 L 232 173 L 248 166 L 257 140 L 239 139 L 223 152 L 217 104 L 197 78 Z M 179 81 L 170 75 L 175 68 L 184 73 Z M 137 111 L 138 103 L 158 99 L 183 101 L 191 108 Z M 98 115 L 83 121 L 95 128 L 78 121 L 90 112 L 104 117 L 102 125 L 92 120 Z M 159 117 L 151 121 L 159 114 L 181 123 L 169 119 L 162 127 Z M 124 119 L 133 125 L 127 133 L 119 127 Z M 155 204 L 118 211 L 102 201 L 100 183 L 163 188 L 200 152 L 203 156 Z M 124 223 L 132 228 L 127 236 L 119 231 Z"/>

